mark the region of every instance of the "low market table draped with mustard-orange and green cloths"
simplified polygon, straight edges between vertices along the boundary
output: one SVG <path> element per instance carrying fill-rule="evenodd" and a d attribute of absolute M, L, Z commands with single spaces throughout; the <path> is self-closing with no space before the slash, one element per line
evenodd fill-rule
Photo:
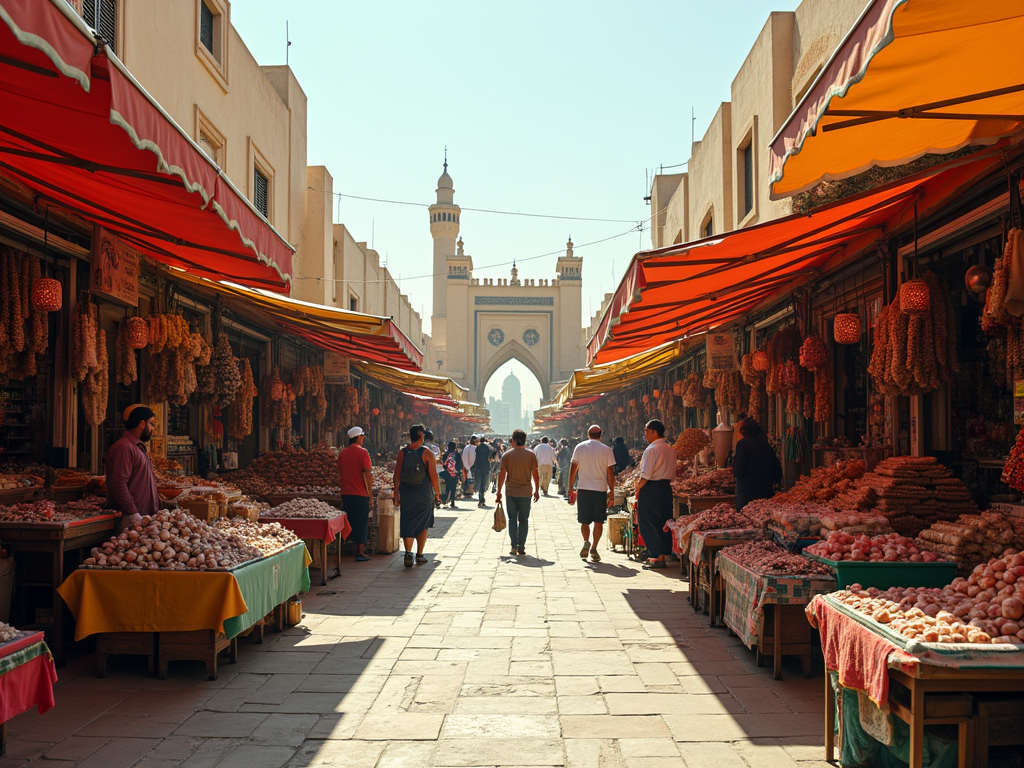
<path fill-rule="evenodd" d="M 216 679 L 221 650 L 233 660 L 239 635 L 309 590 L 309 562 L 296 542 L 231 570 L 79 568 L 58 592 L 78 621 L 76 640 L 113 633 L 119 642 L 134 639 L 142 648 L 135 652 L 147 655 L 152 636 L 161 678 L 168 662 L 196 659 Z"/>

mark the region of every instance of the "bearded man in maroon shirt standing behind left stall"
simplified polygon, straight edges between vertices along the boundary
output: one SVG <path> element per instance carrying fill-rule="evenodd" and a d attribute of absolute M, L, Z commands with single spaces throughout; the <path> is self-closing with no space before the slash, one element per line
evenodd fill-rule
<path fill-rule="evenodd" d="M 160 509 L 157 477 L 145 443 L 157 428 L 157 415 L 145 406 L 124 413 L 125 431 L 106 452 L 106 504 L 121 512 L 126 528 Z"/>

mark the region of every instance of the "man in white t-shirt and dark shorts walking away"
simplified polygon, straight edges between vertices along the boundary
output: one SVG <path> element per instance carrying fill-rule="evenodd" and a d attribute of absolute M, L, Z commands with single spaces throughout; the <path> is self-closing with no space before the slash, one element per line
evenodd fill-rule
<path fill-rule="evenodd" d="M 597 543 L 604 532 L 608 509 L 615 501 L 615 455 L 610 445 L 601 442 L 601 428 L 596 424 L 587 430 L 587 436 L 590 439 L 581 442 L 572 452 L 569 504 L 577 505 L 577 520 L 583 534 L 580 557 L 586 560 L 589 554 L 594 562 L 600 562 Z M 593 542 L 590 539 L 591 524 L 594 525 Z"/>

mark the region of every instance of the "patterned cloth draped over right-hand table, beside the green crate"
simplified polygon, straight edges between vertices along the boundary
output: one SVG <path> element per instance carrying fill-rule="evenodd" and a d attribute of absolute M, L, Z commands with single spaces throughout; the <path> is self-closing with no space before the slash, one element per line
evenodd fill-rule
<path fill-rule="evenodd" d="M 836 591 L 831 577 L 773 577 L 755 573 L 729 557 L 728 550 L 716 558 L 718 572 L 727 585 L 725 624 L 748 648 L 758 644 L 764 632 L 764 606 L 806 605 L 814 595 Z"/>

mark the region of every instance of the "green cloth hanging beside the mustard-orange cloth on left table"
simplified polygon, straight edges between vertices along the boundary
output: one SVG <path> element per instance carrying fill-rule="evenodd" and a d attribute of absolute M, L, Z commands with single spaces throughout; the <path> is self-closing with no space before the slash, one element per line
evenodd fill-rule
<path fill-rule="evenodd" d="M 288 598 L 309 591 L 307 557 L 305 545 L 297 542 L 284 552 L 231 572 L 249 610 L 224 620 L 228 639 L 248 630 Z"/>

